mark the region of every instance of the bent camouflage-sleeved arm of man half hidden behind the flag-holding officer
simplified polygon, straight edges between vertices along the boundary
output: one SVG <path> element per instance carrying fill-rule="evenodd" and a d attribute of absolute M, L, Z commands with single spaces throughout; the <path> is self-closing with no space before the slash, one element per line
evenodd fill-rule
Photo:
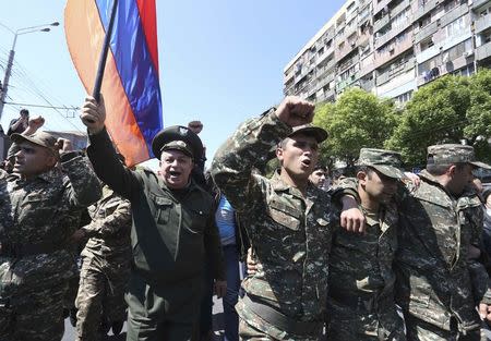
<path fill-rule="evenodd" d="M 96 219 L 89 226 L 83 227 L 85 234 L 91 236 L 110 236 L 131 228 L 131 205 L 130 202 L 117 197 L 108 203 L 109 206 L 101 209 L 112 212 L 104 219 Z M 115 207 L 116 206 L 116 207 Z"/>

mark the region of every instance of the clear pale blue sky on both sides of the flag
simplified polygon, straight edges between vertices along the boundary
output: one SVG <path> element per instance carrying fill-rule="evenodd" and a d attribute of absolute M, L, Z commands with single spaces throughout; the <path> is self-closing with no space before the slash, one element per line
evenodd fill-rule
<path fill-rule="evenodd" d="M 282 100 L 286 63 L 344 2 L 157 0 L 164 124 L 201 120 L 201 137 L 211 159 L 240 122 Z M 0 12 L 0 23 L 13 31 L 61 23 L 49 33 L 19 36 L 9 101 L 47 105 L 46 98 L 55 106 L 81 106 L 85 90 L 64 40 L 64 4 L 62 0 L 16 0 Z M 12 41 L 13 34 L 0 26 L 2 81 Z M 19 109 L 5 106 L 4 129 Z M 49 130 L 84 131 L 77 112 L 29 111 L 43 114 Z M 64 118 L 67 113 L 75 118 Z"/>

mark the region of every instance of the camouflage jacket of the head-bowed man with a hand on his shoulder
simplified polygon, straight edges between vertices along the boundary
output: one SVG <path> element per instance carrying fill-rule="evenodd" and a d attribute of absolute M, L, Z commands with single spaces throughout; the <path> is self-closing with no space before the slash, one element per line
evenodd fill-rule
<path fill-rule="evenodd" d="M 395 205 L 388 205 L 381 208 L 379 219 L 367 217 L 363 235 L 342 228 L 335 231 L 328 278 L 333 300 L 338 297 L 343 303 L 345 297 L 358 296 L 395 308 L 393 261 L 397 249 L 397 223 Z"/>

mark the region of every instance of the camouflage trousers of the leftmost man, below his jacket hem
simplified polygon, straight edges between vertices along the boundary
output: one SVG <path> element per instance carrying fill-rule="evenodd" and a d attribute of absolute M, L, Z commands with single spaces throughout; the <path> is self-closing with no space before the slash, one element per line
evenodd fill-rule
<path fill-rule="evenodd" d="M 0 297 L 0 341 L 59 341 L 67 283 Z"/>

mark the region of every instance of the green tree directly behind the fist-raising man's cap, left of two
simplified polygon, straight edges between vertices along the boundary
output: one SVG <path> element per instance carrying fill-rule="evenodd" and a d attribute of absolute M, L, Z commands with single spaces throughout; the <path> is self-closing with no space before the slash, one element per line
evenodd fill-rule
<path fill-rule="evenodd" d="M 352 166 L 360 148 L 383 147 L 397 125 L 397 114 L 392 100 L 354 87 L 343 93 L 335 103 L 318 106 L 314 124 L 330 133 L 321 146 L 323 161 L 331 158 Z"/>

